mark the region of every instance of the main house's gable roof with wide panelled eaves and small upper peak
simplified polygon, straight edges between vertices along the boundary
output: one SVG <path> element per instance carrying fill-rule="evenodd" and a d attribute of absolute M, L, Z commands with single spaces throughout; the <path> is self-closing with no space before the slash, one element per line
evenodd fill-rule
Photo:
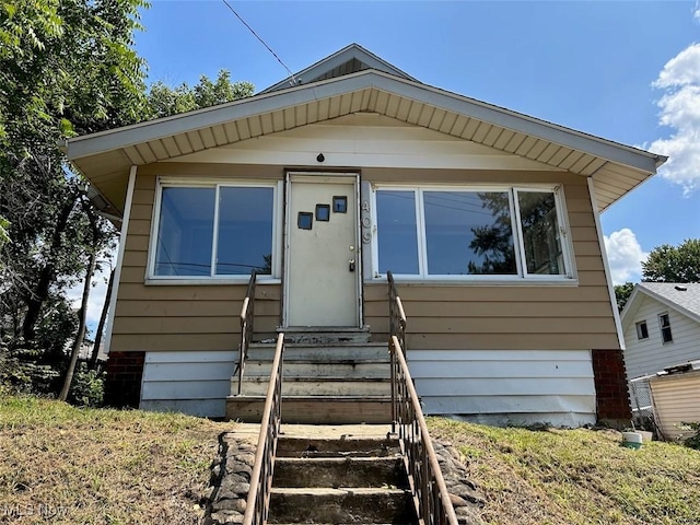
<path fill-rule="evenodd" d="M 338 68 L 348 59 L 380 69 L 342 74 Z M 132 165 L 165 162 L 357 113 L 385 115 L 592 177 L 599 210 L 666 161 L 662 155 L 422 84 L 357 45 L 304 71 L 324 80 L 275 90 L 276 84 L 241 101 L 77 137 L 67 142 L 68 159 L 112 205 L 110 213 L 124 209 Z"/>

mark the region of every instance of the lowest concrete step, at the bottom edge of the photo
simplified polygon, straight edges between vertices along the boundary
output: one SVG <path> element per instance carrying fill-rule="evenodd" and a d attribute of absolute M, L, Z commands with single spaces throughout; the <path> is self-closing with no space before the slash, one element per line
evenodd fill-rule
<path fill-rule="evenodd" d="M 416 523 L 410 492 L 392 488 L 272 487 L 269 523 Z"/>

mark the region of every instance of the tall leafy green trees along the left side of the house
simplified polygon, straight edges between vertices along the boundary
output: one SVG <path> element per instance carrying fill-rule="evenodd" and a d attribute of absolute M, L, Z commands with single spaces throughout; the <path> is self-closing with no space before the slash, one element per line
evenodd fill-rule
<path fill-rule="evenodd" d="M 85 182 L 58 143 L 147 116 L 142 0 L 0 2 L 0 332 L 61 362 L 66 289 L 94 254 Z M 101 238 L 114 230 L 98 220 Z M 106 242 L 106 241 L 105 241 Z"/>

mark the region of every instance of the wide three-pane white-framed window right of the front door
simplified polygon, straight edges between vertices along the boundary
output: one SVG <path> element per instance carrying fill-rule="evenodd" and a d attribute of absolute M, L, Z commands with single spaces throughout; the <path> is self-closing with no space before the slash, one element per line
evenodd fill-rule
<path fill-rule="evenodd" d="M 375 276 L 562 279 L 571 275 L 553 188 L 375 188 Z"/>

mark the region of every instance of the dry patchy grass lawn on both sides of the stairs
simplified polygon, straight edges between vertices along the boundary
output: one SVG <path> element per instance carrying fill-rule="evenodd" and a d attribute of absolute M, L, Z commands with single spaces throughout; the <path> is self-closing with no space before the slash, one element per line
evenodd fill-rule
<path fill-rule="evenodd" d="M 195 524 L 218 436 L 235 423 L 0 399 L 0 523 Z M 700 524 L 700 452 L 593 430 L 430 418 L 464 454 L 491 524 Z"/>

